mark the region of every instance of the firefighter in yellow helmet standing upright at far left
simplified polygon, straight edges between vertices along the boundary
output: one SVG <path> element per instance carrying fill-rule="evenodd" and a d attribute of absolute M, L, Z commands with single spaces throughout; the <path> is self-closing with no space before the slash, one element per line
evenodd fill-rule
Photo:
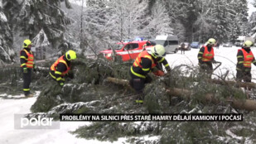
<path fill-rule="evenodd" d="M 23 73 L 23 92 L 25 97 L 33 97 L 29 88 L 31 84 L 31 70 L 35 70 L 34 55 L 31 51 L 31 45 L 30 40 L 25 40 L 23 42 L 23 49 L 20 51 L 21 69 Z"/>

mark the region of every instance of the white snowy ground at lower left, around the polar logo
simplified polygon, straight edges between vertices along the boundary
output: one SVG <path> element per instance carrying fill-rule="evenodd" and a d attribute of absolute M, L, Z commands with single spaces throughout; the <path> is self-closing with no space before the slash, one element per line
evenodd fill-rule
<path fill-rule="evenodd" d="M 36 93 L 36 96 L 38 94 Z M 36 101 L 36 97 L 22 97 L 23 95 L 7 96 L 0 93 L 0 144 L 111 143 L 86 140 L 70 134 L 70 131 L 74 131 L 79 126 L 88 125 L 89 122 L 60 122 L 60 129 L 15 129 L 14 114 L 31 113 L 31 105 Z M 119 138 L 118 142 L 111 144 L 125 143 L 125 140 L 125 138 Z"/>

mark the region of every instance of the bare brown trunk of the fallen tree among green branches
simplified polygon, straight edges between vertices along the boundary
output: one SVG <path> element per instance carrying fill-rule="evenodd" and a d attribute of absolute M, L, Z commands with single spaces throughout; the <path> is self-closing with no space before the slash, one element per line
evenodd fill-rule
<path fill-rule="evenodd" d="M 130 87 L 127 79 L 116 79 L 112 77 L 108 77 L 107 80 L 114 84 L 121 84 L 126 87 Z M 178 89 L 178 88 L 166 88 L 167 94 L 171 97 L 181 97 L 181 98 L 191 98 L 191 94 L 193 93 L 188 89 Z M 204 102 L 210 103 L 229 103 L 233 108 L 244 109 L 247 111 L 256 110 L 256 101 L 250 99 L 237 99 L 237 98 L 226 98 L 224 101 L 221 101 L 218 98 L 215 98 L 215 94 L 205 94 Z"/>

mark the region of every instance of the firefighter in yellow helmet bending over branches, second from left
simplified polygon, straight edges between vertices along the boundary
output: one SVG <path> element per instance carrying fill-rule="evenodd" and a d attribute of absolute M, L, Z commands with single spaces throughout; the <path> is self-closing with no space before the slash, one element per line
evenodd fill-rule
<path fill-rule="evenodd" d="M 70 71 L 70 61 L 76 59 L 76 53 L 74 50 L 69 50 L 65 55 L 60 56 L 56 62 L 51 65 L 50 75 L 55 79 L 62 87 L 65 83 L 64 76 Z"/>

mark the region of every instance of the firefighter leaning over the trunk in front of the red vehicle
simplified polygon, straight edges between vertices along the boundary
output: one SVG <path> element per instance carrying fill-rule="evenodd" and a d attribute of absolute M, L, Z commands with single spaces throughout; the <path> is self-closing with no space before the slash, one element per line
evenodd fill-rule
<path fill-rule="evenodd" d="M 161 66 L 163 64 L 167 71 L 171 70 L 167 60 L 164 58 L 165 55 L 165 48 L 161 45 L 156 45 L 152 47 L 151 53 L 148 53 L 147 50 L 143 50 L 133 62 L 133 65 L 130 68 L 130 75 L 132 78 L 130 80 L 130 85 L 138 94 L 136 103 L 143 103 L 142 90 L 145 84 L 152 81 L 152 78 L 147 75 L 149 72 L 152 71 L 153 74 L 156 74 L 157 76 L 164 75 L 161 68 L 159 70 L 158 64 L 161 64 Z"/>

